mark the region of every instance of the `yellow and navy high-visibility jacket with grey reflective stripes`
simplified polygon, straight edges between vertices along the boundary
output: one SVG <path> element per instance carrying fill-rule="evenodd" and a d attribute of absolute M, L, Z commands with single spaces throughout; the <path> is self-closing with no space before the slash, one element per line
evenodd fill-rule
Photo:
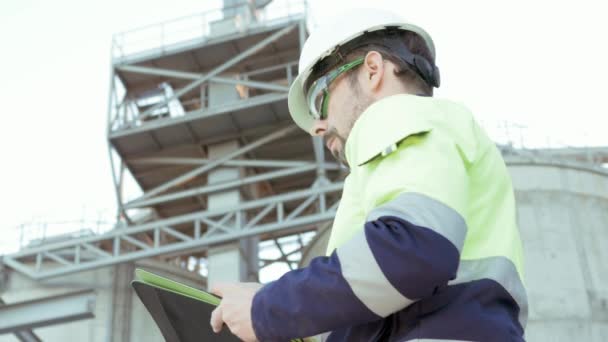
<path fill-rule="evenodd" d="M 347 139 L 327 256 L 254 297 L 261 341 L 522 341 L 523 255 L 510 177 L 463 105 L 394 95 Z"/>

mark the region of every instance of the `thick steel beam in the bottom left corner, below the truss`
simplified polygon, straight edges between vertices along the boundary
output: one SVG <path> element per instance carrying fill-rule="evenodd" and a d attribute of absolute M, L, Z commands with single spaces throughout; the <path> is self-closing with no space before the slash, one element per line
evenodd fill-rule
<path fill-rule="evenodd" d="M 93 318 L 94 313 L 93 290 L 7 304 L 0 306 L 0 334 Z"/>

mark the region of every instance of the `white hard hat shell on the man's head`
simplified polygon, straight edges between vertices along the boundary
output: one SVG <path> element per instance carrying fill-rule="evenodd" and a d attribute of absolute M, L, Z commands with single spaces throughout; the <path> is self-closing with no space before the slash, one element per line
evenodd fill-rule
<path fill-rule="evenodd" d="M 291 85 L 288 97 L 289 112 L 300 128 L 310 132 L 314 123 L 306 102 L 304 84 L 306 84 L 306 80 L 315 64 L 335 52 L 338 46 L 361 36 L 365 32 L 382 30 L 387 27 L 395 27 L 418 34 L 426 43 L 433 61 L 435 60 L 435 45 L 431 36 L 422 28 L 408 23 L 393 12 L 358 8 L 340 13 L 338 17 L 312 32 L 302 48 L 298 65 L 298 77 Z"/>

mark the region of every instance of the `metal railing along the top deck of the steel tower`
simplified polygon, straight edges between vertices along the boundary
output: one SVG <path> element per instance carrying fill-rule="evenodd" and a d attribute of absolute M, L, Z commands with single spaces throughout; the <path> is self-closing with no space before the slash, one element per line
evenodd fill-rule
<path fill-rule="evenodd" d="M 307 15 L 306 0 L 274 0 L 263 9 L 249 2 L 217 8 L 157 24 L 117 33 L 112 37 L 112 57 L 165 53 L 184 43 L 203 43 L 210 38 L 246 32 L 290 22 Z"/>

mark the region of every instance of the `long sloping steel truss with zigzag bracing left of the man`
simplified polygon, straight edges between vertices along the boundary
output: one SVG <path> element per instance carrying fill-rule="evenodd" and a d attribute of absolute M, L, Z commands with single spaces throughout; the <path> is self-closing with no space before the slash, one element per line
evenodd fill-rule
<path fill-rule="evenodd" d="M 342 186 L 343 183 L 315 186 L 245 202 L 236 208 L 119 228 L 99 236 L 26 249 L 5 256 L 3 261 L 31 278 L 44 279 L 177 251 L 200 250 L 255 235 L 276 232 L 288 235 L 313 230 L 315 225 L 335 216 L 337 199 L 327 208 L 319 204 L 326 203 L 328 195 L 337 198 L 335 195 L 339 195 Z M 293 203 L 295 208 L 287 211 L 286 206 Z M 244 220 L 244 217 L 251 219 Z M 236 223 L 227 225 L 231 219 L 236 219 Z M 110 245 L 111 251 L 102 249 L 105 245 Z"/>

